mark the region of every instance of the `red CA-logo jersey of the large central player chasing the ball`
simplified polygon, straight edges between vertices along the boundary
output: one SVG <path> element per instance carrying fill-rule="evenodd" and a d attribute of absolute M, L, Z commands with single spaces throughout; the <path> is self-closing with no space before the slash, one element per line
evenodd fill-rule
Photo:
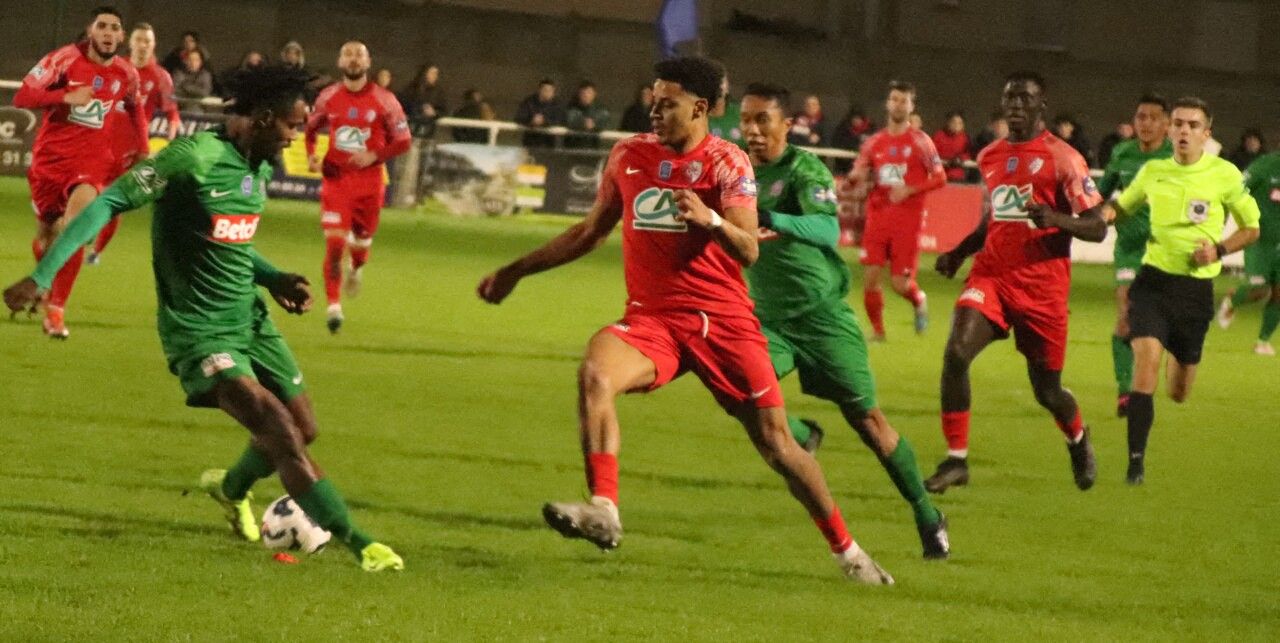
<path fill-rule="evenodd" d="M 622 204 L 622 257 L 628 304 L 641 310 L 750 315 L 742 266 L 709 231 L 676 220 L 675 191 L 692 190 L 708 208 L 755 209 L 755 173 L 741 149 L 708 134 L 687 154 L 652 133 L 609 154 L 600 200 Z"/>

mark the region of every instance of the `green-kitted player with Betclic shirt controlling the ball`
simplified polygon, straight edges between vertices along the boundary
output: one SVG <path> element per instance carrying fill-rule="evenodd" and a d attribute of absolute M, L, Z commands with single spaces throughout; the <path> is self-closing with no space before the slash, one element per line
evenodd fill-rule
<path fill-rule="evenodd" d="M 86 208 L 36 270 L 4 292 L 9 310 L 31 310 L 58 269 L 113 216 L 154 202 L 151 254 L 157 327 L 169 370 L 189 406 L 218 407 L 252 433 L 230 470 L 201 476 L 232 530 L 260 538 L 250 488 L 280 474 L 289 496 L 370 571 L 403 569 L 385 544 L 356 529 L 347 505 L 307 451 L 315 412 L 302 374 L 257 295 L 265 287 L 288 313 L 311 306 L 306 278 L 284 273 L 253 248 L 275 158 L 306 122 L 306 78 L 284 68 L 242 72 L 225 129 L 179 138 L 136 165 Z"/>

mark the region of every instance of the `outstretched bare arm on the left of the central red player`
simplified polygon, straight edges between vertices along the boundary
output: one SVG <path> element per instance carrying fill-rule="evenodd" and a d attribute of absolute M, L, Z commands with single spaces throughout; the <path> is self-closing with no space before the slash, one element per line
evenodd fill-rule
<path fill-rule="evenodd" d="M 600 247 L 621 219 L 622 201 L 617 197 L 614 184 L 607 181 L 600 186 L 595 205 L 581 223 L 481 279 L 476 295 L 489 304 L 500 304 L 520 279 L 567 264 Z"/>

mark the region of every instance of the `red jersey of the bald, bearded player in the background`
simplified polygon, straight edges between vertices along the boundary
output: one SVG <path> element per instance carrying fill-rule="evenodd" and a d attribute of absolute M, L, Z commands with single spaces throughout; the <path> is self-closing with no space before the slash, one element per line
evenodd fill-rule
<path fill-rule="evenodd" d="M 366 82 L 360 91 L 351 91 L 337 82 L 320 92 L 307 119 L 307 156 L 315 154 L 316 134 L 326 126 L 329 151 L 324 155 L 325 178 L 369 174 L 380 182 L 381 163 L 403 154 L 412 142 L 404 110 L 396 95 L 374 82 Z M 378 161 L 364 169 L 348 165 L 351 155 L 364 151 L 376 154 Z"/>

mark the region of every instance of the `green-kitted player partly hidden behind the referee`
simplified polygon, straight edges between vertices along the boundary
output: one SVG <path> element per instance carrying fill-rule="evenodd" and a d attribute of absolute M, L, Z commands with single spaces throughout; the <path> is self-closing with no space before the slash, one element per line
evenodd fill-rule
<path fill-rule="evenodd" d="M 1111 197 L 1129 187 L 1144 163 L 1174 155 L 1169 141 L 1169 101 L 1158 94 L 1144 94 L 1138 99 L 1133 115 L 1135 138 L 1124 141 L 1111 151 L 1106 173 L 1098 182 L 1102 196 Z M 1116 222 L 1116 328 L 1111 336 L 1111 361 L 1116 375 L 1116 415 L 1125 416 L 1129 409 L 1129 389 L 1133 387 L 1133 347 L 1129 346 L 1129 284 L 1142 268 L 1142 255 L 1151 234 L 1147 204 Z"/>

